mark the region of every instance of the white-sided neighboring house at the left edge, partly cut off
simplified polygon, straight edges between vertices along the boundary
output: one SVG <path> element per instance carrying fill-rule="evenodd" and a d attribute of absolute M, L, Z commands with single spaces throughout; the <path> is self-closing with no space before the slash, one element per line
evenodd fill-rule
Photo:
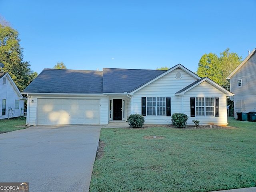
<path fill-rule="evenodd" d="M 7 72 L 0 73 L 0 119 L 24 115 L 24 98 Z"/>

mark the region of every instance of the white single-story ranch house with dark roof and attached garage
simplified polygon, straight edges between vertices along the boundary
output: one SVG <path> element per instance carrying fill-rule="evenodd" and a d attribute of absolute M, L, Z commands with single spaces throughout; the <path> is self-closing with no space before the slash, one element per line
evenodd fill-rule
<path fill-rule="evenodd" d="M 22 92 L 27 124 L 108 124 L 142 114 L 145 124 L 227 125 L 226 97 L 233 94 L 181 64 L 169 70 L 103 68 L 103 71 L 44 69 Z"/>

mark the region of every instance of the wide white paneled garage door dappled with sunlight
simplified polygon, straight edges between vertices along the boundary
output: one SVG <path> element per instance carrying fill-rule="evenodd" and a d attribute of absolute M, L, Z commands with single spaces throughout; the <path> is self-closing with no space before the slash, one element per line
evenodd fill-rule
<path fill-rule="evenodd" d="M 38 99 L 37 124 L 100 124 L 100 100 Z"/>

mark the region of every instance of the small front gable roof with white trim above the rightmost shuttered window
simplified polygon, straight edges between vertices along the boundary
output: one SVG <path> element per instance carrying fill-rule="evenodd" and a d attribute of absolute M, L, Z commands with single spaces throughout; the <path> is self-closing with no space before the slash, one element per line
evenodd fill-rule
<path fill-rule="evenodd" d="M 175 93 L 175 95 L 184 95 L 187 91 L 191 90 L 192 88 L 200 85 L 202 82 L 208 82 L 211 86 L 213 86 L 214 88 L 220 90 L 221 92 L 223 92 L 224 94 L 226 94 L 227 96 L 233 96 L 234 94 L 231 93 L 230 91 L 226 90 L 225 88 L 223 88 L 222 86 L 220 86 L 219 84 L 217 84 L 216 82 L 214 82 L 213 80 L 211 80 L 208 77 L 204 77 L 201 78 L 195 82 L 193 82 L 192 84 L 186 86 L 185 88 L 179 90 L 178 92 Z"/>

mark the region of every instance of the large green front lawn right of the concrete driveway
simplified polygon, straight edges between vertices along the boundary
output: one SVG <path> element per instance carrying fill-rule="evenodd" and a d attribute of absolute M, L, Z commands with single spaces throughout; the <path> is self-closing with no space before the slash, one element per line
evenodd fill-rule
<path fill-rule="evenodd" d="M 90 192 L 255 187 L 256 123 L 230 119 L 231 125 L 239 128 L 103 128 L 104 155 L 94 163 Z"/>

